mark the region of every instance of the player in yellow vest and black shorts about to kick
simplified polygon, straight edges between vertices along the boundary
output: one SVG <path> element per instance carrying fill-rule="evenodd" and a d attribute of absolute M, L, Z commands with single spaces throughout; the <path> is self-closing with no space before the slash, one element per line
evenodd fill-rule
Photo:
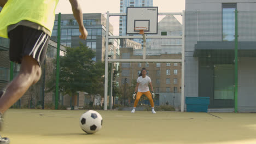
<path fill-rule="evenodd" d="M 44 62 L 55 9 L 59 0 L 0 0 L 0 37 L 9 38 L 10 61 L 20 63 L 20 73 L 0 91 L 0 130 L 2 115 L 16 103 L 27 89 L 41 76 L 40 65 Z M 79 25 L 80 39 L 88 33 L 83 23 L 83 13 L 78 0 L 69 0 Z M 7 137 L 0 136 L 0 144 L 8 144 Z"/>

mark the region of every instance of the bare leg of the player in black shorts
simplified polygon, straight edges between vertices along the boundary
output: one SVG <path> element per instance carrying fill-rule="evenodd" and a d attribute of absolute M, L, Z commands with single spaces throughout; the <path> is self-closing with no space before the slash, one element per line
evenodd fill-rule
<path fill-rule="evenodd" d="M 5 93 L 0 98 L 0 112 L 4 113 L 11 105 L 16 103 L 26 93 L 27 89 L 40 79 L 41 73 L 41 68 L 36 59 L 31 56 L 24 56 L 19 75 L 9 83 Z"/>

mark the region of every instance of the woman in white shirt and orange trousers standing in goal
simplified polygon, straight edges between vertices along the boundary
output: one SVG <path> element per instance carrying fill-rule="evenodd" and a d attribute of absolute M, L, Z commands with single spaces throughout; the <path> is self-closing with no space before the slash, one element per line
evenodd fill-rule
<path fill-rule="evenodd" d="M 153 98 L 155 98 L 155 93 L 153 91 L 153 86 L 152 86 L 151 79 L 146 74 L 147 74 L 146 68 L 142 68 L 141 73 L 139 74 L 139 77 L 137 79 L 137 85 L 135 87 L 135 91 L 132 95 L 133 99 L 135 99 L 135 95 L 136 95 L 136 92 L 137 92 L 136 100 L 134 102 L 134 106 L 133 106 L 133 109 L 131 111 L 132 113 L 135 113 L 135 109 L 136 109 L 136 106 L 138 104 L 138 101 L 141 98 L 141 95 L 143 95 L 143 94 L 145 94 L 148 97 L 149 101 L 150 101 L 150 105 L 152 107 L 152 113 L 156 113 L 155 110 L 154 110 L 154 101 L 152 99 L 152 96 L 153 96 Z M 152 94 L 149 92 L 148 85 L 150 86 L 150 89 L 152 90 Z"/>

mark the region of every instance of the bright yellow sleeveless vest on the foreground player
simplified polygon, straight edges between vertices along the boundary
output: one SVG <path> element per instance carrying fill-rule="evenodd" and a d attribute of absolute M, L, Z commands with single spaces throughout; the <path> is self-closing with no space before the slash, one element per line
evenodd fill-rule
<path fill-rule="evenodd" d="M 51 32 L 59 0 L 8 0 L 0 12 L 0 37 L 8 38 L 7 27 L 21 20 L 38 23 Z"/>

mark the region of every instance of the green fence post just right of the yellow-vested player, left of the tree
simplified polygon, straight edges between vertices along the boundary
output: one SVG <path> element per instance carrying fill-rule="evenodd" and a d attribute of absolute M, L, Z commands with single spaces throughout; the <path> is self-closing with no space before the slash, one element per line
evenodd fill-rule
<path fill-rule="evenodd" d="M 60 34 L 61 34 L 61 13 L 58 15 L 58 36 L 57 36 L 57 57 L 56 57 L 56 89 L 55 89 L 55 110 L 59 107 L 59 76 L 60 76 Z"/>

